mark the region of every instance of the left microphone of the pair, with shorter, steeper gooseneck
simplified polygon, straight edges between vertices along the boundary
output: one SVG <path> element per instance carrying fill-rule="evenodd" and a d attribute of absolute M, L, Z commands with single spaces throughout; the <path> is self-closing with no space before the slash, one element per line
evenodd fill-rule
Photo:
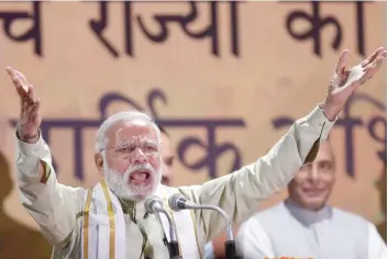
<path fill-rule="evenodd" d="M 169 224 L 169 240 L 170 240 L 167 244 L 169 257 L 171 259 L 181 258 L 179 256 L 179 245 L 178 245 L 177 238 L 175 236 L 175 225 L 173 224 L 171 217 L 168 215 L 166 210 L 163 207 L 163 201 L 158 196 L 149 198 L 149 199 L 145 200 L 144 207 L 145 207 L 145 211 L 151 214 L 156 213 L 156 216 L 159 218 L 160 224 L 162 224 L 162 219 L 160 219 L 159 213 L 164 214 L 167 217 L 167 221 Z"/>

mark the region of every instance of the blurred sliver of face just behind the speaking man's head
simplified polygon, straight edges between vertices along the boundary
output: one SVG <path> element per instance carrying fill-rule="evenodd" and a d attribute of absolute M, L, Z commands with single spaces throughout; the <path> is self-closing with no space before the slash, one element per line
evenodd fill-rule
<path fill-rule="evenodd" d="M 162 184 L 170 185 L 173 182 L 174 158 L 171 139 L 162 133 Z"/>

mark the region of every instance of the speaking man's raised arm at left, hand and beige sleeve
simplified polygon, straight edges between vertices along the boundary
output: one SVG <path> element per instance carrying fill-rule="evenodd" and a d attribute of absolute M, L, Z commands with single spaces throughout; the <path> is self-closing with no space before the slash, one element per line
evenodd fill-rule
<path fill-rule="evenodd" d="M 15 134 L 21 201 L 46 239 L 53 246 L 62 246 L 76 225 L 76 214 L 81 206 L 78 196 L 81 196 L 84 190 L 57 182 L 48 146 L 38 132 L 40 104 L 34 89 L 19 71 L 8 68 L 8 72 L 21 99 L 21 115 Z"/>

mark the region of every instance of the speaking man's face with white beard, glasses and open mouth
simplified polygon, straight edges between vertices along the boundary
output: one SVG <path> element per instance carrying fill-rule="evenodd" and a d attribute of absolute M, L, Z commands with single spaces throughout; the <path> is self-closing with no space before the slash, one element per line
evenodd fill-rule
<path fill-rule="evenodd" d="M 110 190 L 131 201 L 153 195 L 162 179 L 156 128 L 144 120 L 121 121 L 107 132 L 103 174 Z"/>

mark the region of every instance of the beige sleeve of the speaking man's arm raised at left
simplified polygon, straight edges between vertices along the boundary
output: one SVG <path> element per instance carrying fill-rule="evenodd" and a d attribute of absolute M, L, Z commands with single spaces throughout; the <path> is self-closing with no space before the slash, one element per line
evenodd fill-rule
<path fill-rule="evenodd" d="M 77 196 L 57 182 L 47 145 L 16 138 L 16 170 L 21 201 L 52 245 L 63 241 L 76 224 Z"/>

